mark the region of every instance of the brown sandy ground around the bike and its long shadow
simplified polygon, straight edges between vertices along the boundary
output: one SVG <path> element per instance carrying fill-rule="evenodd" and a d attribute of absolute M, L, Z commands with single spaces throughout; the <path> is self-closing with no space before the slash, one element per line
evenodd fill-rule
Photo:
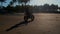
<path fill-rule="evenodd" d="M 26 26 L 5 30 L 23 21 L 23 15 L 0 15 L 0 34 L 60 34 L 60 14 L 38 13 Z"/>

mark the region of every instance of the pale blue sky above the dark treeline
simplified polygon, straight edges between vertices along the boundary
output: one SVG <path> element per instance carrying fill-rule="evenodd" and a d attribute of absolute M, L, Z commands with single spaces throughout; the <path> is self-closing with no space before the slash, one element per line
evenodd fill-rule
<path fill-rule="evenodd" d="M 7 0 L 7 3 L 4 3 L 3 6 L 7 6 L 11 0 Z M 30 5 L 44 5 L 44 4 L 55 4 L 60 6 L 60 0 L 30 0 Z"/>

